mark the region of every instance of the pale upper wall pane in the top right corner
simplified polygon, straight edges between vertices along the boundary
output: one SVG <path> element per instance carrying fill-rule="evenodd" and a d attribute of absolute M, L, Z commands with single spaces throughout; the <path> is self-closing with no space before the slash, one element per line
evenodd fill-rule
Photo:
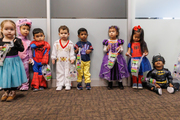
<path fill-rule="evenodd" d="M 180 0 L 135 0 L 136 17 L 178 17 Z"/>

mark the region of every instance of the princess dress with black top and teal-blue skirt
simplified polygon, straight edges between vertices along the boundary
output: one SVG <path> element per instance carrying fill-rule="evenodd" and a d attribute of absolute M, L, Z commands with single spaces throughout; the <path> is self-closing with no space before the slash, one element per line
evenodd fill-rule
<path fill-rule="evenodd" d="M 2 39 L 0 38 L 0 46 L 10 44 L 10 42 L 3 42 Z M 18 56 L 18 51 L 23 52 L 24 46 L 21 39 L 15 39 L 14 46 L 7 53 L 3 66 L 0 66 L 0 87 L 3 89 L 19 87 L 27 82 L 23 63 Z"/>

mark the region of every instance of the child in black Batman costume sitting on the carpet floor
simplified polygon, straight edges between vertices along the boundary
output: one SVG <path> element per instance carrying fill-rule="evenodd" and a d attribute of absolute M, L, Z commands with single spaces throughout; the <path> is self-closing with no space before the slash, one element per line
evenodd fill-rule
<path fill-rule="evenodd" d="M 161 95 L 161 88 L 170 87 L 172 89 L 172 92 L 169 90 L 168 92 L 174 93 L 176 89 L 175 86 L 177 86 L 178 88 L 179 83 L 173 84 L 173 77 L 171 76 L 171 72 L 168 69 L 164 68 L 164 58 L 160 55 L 154 56 L 152 63 L 154 69 L 148 72 L 147 78 L 154 79 L 156 82 L 154 84 L 147 82 L 147 88 Z"/>

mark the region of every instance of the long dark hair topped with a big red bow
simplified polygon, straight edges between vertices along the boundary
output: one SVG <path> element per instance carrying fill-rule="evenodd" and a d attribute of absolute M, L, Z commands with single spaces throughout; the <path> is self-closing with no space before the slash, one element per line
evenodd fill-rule
<path fill-rule="evenodd" d="M 140 40 L 139 40 L 139 42 L 140 42 L 140 46 L 141 46 L 141 51 L 146 50 L 146 51 L 148 52 L 146 43 L 145 43 L 145 41 L 144 41 L 144 30 L 141 28 L 140 25 L 134 26 L 134 28 L 132 29 L 131 40 L 130 40 L 131 45 L 132 45 L 132 43 L 133 43 L 133 35 L 136 34 L 136 33 L 139 33 L 139 34 L 140 34 Z"/>

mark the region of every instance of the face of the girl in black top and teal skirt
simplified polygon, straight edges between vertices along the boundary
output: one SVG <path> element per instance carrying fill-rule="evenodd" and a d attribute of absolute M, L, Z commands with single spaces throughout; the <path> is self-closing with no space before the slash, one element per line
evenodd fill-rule
<path fill-rule="evenodd" d="M 16 29 L 11 22 L 4 23 L 4 27 L 1 29 L 3 35 L 12 39 L 16 33 Z"/>

